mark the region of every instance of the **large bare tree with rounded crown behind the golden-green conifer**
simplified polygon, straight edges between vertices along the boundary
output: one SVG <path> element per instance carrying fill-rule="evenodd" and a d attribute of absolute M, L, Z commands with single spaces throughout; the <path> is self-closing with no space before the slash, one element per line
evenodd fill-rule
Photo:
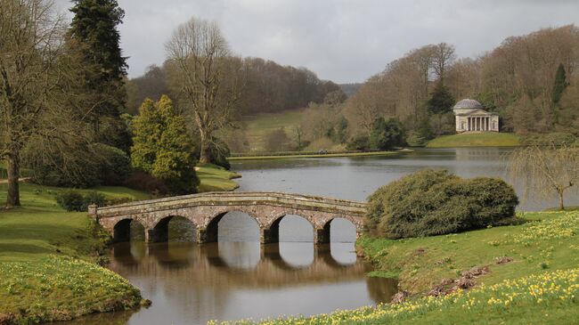
<path fill-rule="evenodd" d="M 166 45 L 170 84 L 197 124 L 200 162 L 211 160 L 216 130 L 231 123 L 241 97 L 241 59 L 233 58 L 216 22 L 192 18 Z"/>

